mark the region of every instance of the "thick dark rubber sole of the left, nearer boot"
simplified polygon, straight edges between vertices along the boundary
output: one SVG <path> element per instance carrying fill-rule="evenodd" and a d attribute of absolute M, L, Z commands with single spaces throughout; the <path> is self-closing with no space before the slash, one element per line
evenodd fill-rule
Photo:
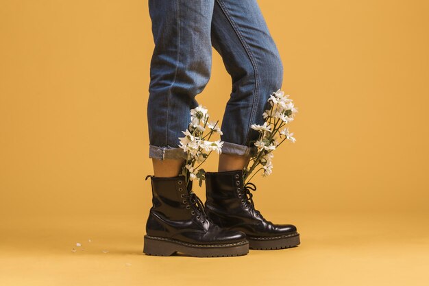
<path fill-rule="evenodd" d="M 249 253 L 249 241 L 225 244 L 192 244 L 164 237 L 145 235 L 143 253 L 168 257 L 177 252 L 191 257 L 236 257 Z"/>

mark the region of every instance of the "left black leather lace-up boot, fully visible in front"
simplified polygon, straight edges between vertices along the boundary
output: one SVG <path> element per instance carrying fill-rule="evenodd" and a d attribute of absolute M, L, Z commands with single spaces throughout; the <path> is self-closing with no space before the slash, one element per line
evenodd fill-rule
<path fill-rule="evenodd" d="M 192 191 L 192 181 L 186 189 L 182 175 L 150 177 L 153 206 L 147 218 L 145 254 L 229 257 L 249 252 L 244 233 L 224 230 L 208 219 L 203 203 Z"/>

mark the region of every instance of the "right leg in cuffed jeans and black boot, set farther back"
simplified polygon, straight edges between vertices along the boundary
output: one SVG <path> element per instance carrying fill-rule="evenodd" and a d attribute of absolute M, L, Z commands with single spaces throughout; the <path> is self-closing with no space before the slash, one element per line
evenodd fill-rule
<path fill-rule="evenodd" d="M 254 152 L 253 141 L 258 139 L 250 126 L 264 122 L 267 99 L 281 88 L 283 78 L 282 61 L 257 1 L 216 0 L 212 45 L 232 77 L 232 93 L 221 126 L 225 156 L 218 172 L 206 172 L 206 211 L 215 224 L 243 231 L 249 248 L 297 246 L 297 228 L 267 221 L 254 205 L 256 186 L 243 181 L 246 156 Z"/>

